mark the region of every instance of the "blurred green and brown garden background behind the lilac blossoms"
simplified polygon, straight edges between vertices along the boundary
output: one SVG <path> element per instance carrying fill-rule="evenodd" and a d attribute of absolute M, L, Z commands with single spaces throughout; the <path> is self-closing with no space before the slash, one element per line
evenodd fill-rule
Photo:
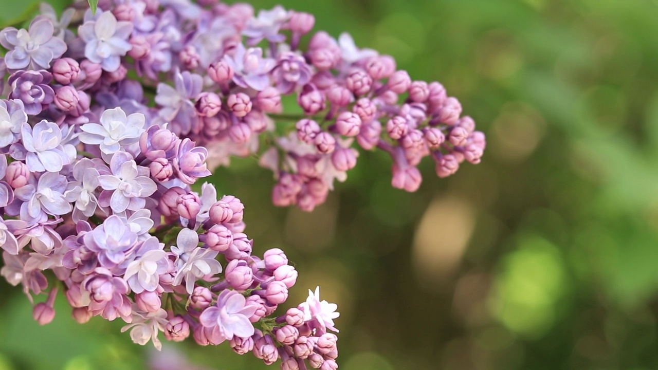
<path fill-rule="evenodd" d="M 0 1 L 1 20 L 29 3 Z M 341 369 L 658 369 L 658 1 L 283 5 L 439 80 L 488 138 L 482 163 L 451 178 L 426 161 L 414 194 L 391 188 L 389 158 L 362 153 L 310 215 L 271 205 L 255 159 L 215 172 L 245 203 L 255 251 L 295 262 L 289 302 L 320 285 L 338 303 Z M 120 323 L 74 323 L 61 298 L 39 327 L 18 288 L 0 294 L 1 370 L 143 369 L 153 356 Z M 163 356 L 267 368 L 191 340 Z"/>

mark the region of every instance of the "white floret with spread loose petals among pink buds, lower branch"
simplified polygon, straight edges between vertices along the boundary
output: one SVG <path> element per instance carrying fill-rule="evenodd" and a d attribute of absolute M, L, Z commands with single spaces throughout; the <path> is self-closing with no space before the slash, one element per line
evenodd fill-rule
<path fill-rule="evenodd" d="M 176 255 L 176 278 L 173 285 L 180 285 L 185 278 L 188 294 L 192 294 L 197 279 L 222 272 L 222 265 L 215 259 L 218 252 L 199 248 L 199 234 L 194 230 L 180 230 L 176 246 L 172 246 L 171 251 Z"/>

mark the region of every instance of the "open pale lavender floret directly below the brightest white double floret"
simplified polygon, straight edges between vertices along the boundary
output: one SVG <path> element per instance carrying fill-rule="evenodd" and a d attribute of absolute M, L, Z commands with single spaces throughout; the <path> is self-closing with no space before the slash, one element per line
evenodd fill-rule
<path fill-rule="evenodd" d="M 157 190 L 155 182 L 149 177 L 149 169 L 138 166 L 129 153 L 115 153 L 110 162 L 110 170 L 112 174 L 101 174 L 99 182 L 101 188 L 108 191 L 105 194 L 111 194 L 109 206 L 115 213 L 126 209 L 142 209 L 146 205 L 144 198 Z"/>

